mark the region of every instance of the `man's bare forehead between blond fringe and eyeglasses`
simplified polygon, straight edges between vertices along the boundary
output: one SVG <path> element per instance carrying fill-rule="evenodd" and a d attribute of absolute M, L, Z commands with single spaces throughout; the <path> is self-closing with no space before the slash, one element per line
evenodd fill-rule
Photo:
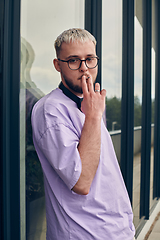
<path fill-rule="evenodd" d="M 91 40 L 85 42 L 74 41 L 70 43 L 62 43 L 60 56 L 67 58 L 69 56 L 85 57 L 96 55 L 95 44 Z"/>

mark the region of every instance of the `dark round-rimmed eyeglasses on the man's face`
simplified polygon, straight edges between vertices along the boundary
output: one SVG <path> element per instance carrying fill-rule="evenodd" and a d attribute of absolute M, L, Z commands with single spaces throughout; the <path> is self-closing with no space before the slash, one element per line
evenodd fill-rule
<path fill-rule="evenodd" d="M 71 58 L 67 61 L 58 58 L 58 60 L 61 61 L 61 62 L 67 62 L 68 67 L 71 70 L 78 70 L 81 67 L 83 61 L 85 62 L 86 67 L 89 68 L 89 69 L 97 67 L 99 58 L 98 57 L 88 57 L 84 60 L 81 60 L 79 58 Z"/>

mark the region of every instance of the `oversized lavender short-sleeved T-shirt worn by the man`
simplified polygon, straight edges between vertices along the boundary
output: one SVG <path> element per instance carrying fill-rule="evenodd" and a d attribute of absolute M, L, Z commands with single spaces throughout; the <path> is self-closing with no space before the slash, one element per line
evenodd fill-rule
<path fill-rule="evenodd" d="M 76 103 L 58 88 L 33 108 L 33 140 L 44 173 L 47 240 L 132 240 L 132 208 L 103 121 L 100 161 L 90 192 L 78 195 L 71 190 L 82 170 L 77 145 L 84 120 Z"/>

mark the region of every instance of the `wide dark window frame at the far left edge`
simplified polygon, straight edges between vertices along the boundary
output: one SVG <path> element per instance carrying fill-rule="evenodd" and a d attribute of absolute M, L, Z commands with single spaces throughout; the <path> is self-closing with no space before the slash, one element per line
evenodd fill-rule
<path fill-rule="evenodd" d="M 20 0 L 3 5 L 2 52 L 2 223 L 3 239 L 20 239 Z"/>

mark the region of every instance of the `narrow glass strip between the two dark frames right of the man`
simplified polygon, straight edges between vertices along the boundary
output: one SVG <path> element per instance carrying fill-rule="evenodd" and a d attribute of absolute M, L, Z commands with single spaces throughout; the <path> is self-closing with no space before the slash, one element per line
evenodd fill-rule
<path fill-rule="evenodd" d="M 134 52 L 134 162 L 133 162 L 133 213 L 134 225 L 140 221 L 141 179 L 141 115 L 142 115 L 142 1 L 135 1 L 135 52 Z"/>

